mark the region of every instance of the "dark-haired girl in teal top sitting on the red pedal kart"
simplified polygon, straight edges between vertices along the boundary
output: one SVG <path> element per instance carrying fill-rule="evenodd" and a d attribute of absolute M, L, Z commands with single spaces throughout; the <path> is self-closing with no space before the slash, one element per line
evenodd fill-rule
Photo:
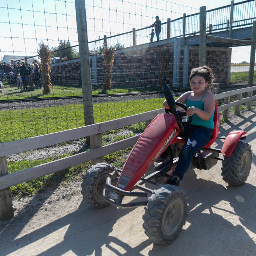
<path fill-rule="evenodd" d="M 186 103 L 187 116 L 193 116 L 190 124 L 183 125 L 184 132 L 179 136 L 186 139 L 183 145 L 177 166 L 172 176 L 166 181 L 171 185 L 180 185 L 185 172 L 190 166 L 192 156 L 202 149 L 210 140 L 213 133 L 215 98 L 210 92 L 214 76 L 208 66 L 194 68 L 190 74 L 190 92 L 185 92 L 176 101 Z M 166 100 L 163 106 L 169 109 Z"/>

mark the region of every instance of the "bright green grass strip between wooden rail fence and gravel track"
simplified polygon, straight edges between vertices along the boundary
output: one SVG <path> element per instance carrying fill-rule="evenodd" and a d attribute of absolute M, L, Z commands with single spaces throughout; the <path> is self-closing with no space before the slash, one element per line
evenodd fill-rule
<path fill-rule="evenodd" d="M 162 107 L 163 98 L 96 103 L 94 123 Z M 0 112 L 0 143 L 84 126 L 82 104 L 4 110 Z"/>

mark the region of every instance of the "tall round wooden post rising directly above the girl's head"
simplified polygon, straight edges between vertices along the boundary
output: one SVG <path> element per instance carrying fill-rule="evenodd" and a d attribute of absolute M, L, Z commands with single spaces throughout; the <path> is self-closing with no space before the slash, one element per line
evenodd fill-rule
<path fill-rule="evenodd" d="M 199 65 L 206 65 L 206 6 L 200 7 Z"/>

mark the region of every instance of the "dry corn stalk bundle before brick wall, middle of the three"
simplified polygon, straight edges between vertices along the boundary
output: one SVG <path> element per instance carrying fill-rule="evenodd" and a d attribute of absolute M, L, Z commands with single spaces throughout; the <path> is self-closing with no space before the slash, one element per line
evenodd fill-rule
<path fill-rule="evenodd" d="M 105 75 L 102 90 L 109 90 L 113 85 L 111 72 L 114 65 L 114 53 L 114 46 L 105 47 L 102 53 L 103 59 L 105 61 Z"/>

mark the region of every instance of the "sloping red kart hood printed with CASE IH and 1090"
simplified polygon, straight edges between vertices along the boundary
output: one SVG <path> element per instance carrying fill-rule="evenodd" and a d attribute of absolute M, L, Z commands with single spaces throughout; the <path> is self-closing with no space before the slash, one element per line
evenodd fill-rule
<path fill-rule="evenodd" d="M 158 114 L 135 144 L 117 187 L 130 191 L 170 143 L 174 142 L 179 132 L 174 115 Z"/>

